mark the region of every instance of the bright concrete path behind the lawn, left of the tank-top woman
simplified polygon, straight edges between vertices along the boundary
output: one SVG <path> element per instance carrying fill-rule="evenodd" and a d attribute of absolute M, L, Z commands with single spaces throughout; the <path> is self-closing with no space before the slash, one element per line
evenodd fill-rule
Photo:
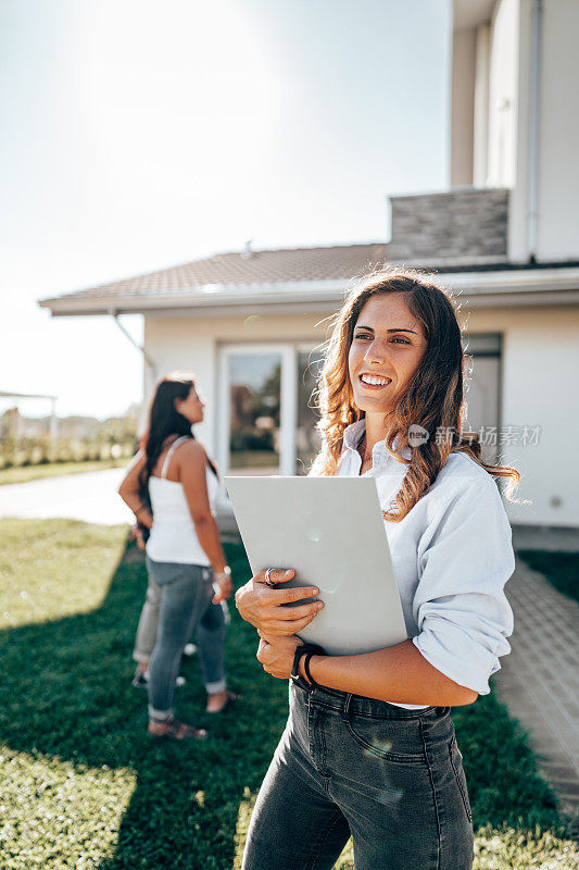
<path fill-rule="evenodd" d="M 0 517 L 64 517 L 87 523 L 133 523 L 117 487 L 124 469 L 106 469 L 0 486 Z"/>

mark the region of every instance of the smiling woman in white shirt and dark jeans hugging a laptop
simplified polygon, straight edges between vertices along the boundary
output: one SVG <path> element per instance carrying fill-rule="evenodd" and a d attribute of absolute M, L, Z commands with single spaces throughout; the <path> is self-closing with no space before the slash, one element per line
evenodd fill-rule
<path fill-rule="evenodd" d="M 511 477 L 513 488 L 519 474 L 484 464 L 478 436 L 463 432 L 466 365 L 452 298 L 418 272 L 373 275 L 336 315 L 311 474 L 375 477 L 407 638 L 325 655 L 295 635 L 319 612 L 316 602 L 279 606 L 288 595 L 311 597 L 309 588 L 272 589 L 260 572 L 238 591 L 241 616 L 260 633 L 259 660 L 273 676 L 292 678 L 243 870 L 329 870 L 350 834 L 356 870 L 473 866 L 450 711 L 488 694 L 511 650 L 504 585 L 515 560 L 491 475 Z M 355 554 L 352 517 L 352 583 L 362 596 Z"/>

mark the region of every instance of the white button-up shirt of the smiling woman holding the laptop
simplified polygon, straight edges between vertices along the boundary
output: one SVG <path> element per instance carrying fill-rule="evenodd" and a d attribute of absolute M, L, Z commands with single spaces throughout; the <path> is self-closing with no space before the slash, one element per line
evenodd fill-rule
<path fill-rule="evenodd" d="M 348 426 L 338 476 L 358 476 L 365 420 Z M 403 456 L 410 459 L 410 448 Z M 374 446 L 383 510 L 395 506 L 407 465 Z M 493 478 L 466 453 L 451 453 L 429 490 L 400 522 L 385 521 L 407 636 L 437 670 L 480 695 L 511 652 L 513 611 L 504 586 L 515 570 L 512 532 Z M 395 704 L 394 701 L 390 701 Z M 427 705 L 395 704 L 407 709 Z"/>

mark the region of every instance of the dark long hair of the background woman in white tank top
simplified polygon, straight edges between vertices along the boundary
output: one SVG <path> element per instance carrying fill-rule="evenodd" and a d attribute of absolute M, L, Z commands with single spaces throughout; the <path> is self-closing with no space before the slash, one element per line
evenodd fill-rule
<path fill-rule="evenodd" d="M 175 408 L 175 400 L 186 399 L 191 391 L 191 387 L 197 389 L 194 376 L 182 372 L 172 372 L 165 375 L 155 387 L 149 410 L 149 426 L 144 444 L 147 459 L 140 475 L 142 487 L 147 487 L 149 477 L 168 437 L 172 435 L 177 437 L 187 435 L 194 440 L 190 421 Z M 209 457 L 207 462 L 217 480 L 219 480 L 215 463 Z"/>

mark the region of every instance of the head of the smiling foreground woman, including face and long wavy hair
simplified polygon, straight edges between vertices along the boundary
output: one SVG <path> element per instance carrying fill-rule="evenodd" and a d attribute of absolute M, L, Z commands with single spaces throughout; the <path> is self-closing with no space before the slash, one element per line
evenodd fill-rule
<path fill-rule="evenodd" d="M 401 522 L 455 452 L 466 453 L 490 475 L 508 477 L 505 495 L 515 501 L 518 471 L 483 462 L 479 435 L 464 428 L 468 363 L 454 297 L 414 270 L 389 270 L 367 278 L 333 320 L 320 374 L 323 447 L 312 473 L 337 472 L 345 427 L 364 419 L 362 473 L 372 465 L 377 443 L 392 459 L 410 465 L 397 494 L 397 511 L 382 511 L 385 520 Z M 368 375 L 389 383 L 365 383 Z M 402 452 L 413 425 L 423 426 L 427 438 L 408 462 Z"/>

